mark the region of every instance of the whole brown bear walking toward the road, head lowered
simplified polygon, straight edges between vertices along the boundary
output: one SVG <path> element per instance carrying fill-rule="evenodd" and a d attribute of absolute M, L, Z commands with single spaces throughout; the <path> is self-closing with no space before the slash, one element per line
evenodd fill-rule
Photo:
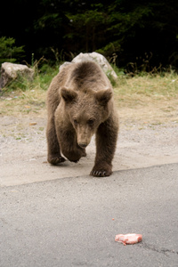
<path fill-rule="evenodd" d="M 77 162 L 86 156 L 85 148 L 96 134 L 91 175 L 109 176 L 118 117 L 112 86 L 101 67 L 93 61 L 83 61 L 61 69 L 48 89 L 47 109 L 48 162 L 57 165 L 65 158 Z"/>

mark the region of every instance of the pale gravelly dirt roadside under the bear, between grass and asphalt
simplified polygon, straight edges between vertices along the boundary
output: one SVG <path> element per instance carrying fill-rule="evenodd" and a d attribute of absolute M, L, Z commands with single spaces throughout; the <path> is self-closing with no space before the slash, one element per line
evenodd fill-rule
<path fill-rule="evenodd" d="M 171 106 L 171 103 L 170 103 Z M 178 109 L 151 103 L 135 108 L 120 107 L 120 131 L 113 171 L 178 162 Z M 95 157 L 94 138 L 87 156 L 77 164 L 61 166 L 46 161 L 46 111 L 0 115 L 0 186 L 76 177 L 89 174 Z M 119 174 L 119 173 L 118 173 Z"/>

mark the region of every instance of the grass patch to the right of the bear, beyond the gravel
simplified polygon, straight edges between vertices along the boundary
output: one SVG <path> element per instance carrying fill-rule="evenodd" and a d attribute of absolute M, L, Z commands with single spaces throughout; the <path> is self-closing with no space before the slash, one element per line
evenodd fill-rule
<path fill-rule="evenodd" d="M 178 96 L 178 76 L 144 74 L 142 76 L 120 76 L 114 88 L 117 104 L 146 104 L 146 101 L 175 100 Z"/>

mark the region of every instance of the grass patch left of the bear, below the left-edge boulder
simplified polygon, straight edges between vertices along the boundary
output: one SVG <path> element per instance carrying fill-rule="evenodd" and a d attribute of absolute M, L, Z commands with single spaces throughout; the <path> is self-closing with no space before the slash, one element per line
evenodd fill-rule
<path fill-rule="evenodd" d="M 37 69 L 33 81 L 19 77 L 0 92 L 0 114 L 18 115 L 40 113 L 45 106 L 45 94 L 59 66 L 43 65 Z"/>

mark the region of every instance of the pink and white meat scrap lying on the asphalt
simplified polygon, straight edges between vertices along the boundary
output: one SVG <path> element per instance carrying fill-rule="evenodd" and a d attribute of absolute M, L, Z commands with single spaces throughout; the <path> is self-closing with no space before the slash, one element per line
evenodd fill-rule
<path fill-rule="evenodd" d="M 140 234 L 119 234 L 115 237 L 116 242 L 122 242 L 124 245 L 133 245 L 142 241 L 142 235 Z"/>

